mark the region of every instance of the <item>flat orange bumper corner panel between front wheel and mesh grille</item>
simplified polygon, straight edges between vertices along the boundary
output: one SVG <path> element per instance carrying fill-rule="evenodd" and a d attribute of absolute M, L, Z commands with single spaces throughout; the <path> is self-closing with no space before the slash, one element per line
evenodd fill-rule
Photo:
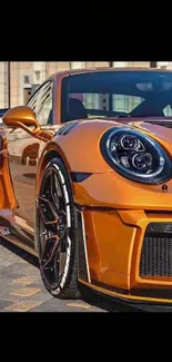
<path fill-rule="evenodd" d="M 129 290 L 136 228 L 121 223 L 115 211 L 85 211 L 83 216 L 91 280 Z"/>

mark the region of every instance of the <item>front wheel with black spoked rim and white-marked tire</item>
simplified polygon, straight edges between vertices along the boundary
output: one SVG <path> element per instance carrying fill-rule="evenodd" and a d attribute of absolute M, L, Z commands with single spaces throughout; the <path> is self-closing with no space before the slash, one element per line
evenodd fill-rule
<path fill-rule="evenodd" d="M 47 203 L 47 197 L 49 203 Z M 77 217 L 69 175 L 59 157 L 53 158 L 44 169 L 38 203 L 37 237 L 42 282 L 55 297 L 78 299 L 80 292 L 78 288 Z M 54 215 L 59 217 L 57 224 L 53 224 Z M 47 224 L 48 218 L 51 219 L 52 225 Z M 55 255 L 54 262 L 51 261 L 52 254 Z M 60 273 L 61 264 L 64 265 Z"/>

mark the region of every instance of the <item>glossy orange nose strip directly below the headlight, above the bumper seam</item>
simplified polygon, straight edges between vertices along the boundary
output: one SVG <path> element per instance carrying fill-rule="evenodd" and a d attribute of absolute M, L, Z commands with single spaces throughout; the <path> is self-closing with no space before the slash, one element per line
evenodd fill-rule
<path fill-rule="evenodd" d="M 103 188 L 98 187 L 103 185 Z M 93 174 L 74 184 L 74 199 L 81 205 L 131 209 L 172 211 L 172 180 L 162 185 L 142 185 L 124 179 L 115 172 Z"/>

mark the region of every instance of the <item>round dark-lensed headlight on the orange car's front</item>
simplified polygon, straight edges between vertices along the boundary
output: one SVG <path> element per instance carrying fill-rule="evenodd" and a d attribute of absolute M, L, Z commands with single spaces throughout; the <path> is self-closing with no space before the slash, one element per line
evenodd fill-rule
<path fill-rule="evenodd" d="M 119 174 L 144 184 L 160 184 L 172 177 L 172 162 L 152 138 L 132 129 L 111 128 L 101 139 L 105 160 Z"/>

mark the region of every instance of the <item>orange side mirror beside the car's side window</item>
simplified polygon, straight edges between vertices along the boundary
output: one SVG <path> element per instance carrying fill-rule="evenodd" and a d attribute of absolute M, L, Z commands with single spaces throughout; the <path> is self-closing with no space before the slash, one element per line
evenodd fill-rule
<path fill-rule="evenodd" d="M 19 106 L 9 109 L 3 115 L 2 121 L 7 127 L 22 128 L 32 136 L 40 131 L 40 126 L 32 109 L 27 106 Z"/>

